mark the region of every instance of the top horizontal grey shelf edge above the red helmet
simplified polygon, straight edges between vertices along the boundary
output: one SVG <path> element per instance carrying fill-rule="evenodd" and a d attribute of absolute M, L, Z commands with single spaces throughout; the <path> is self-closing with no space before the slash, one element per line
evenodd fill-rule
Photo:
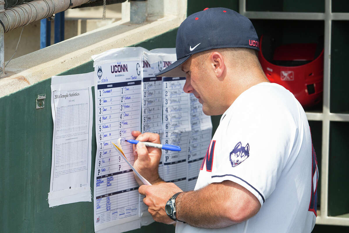
<path fill-rule="evenodd" d="M 244 15 L 248 19 L 325 20 L 325 13 L 246 11 Z"/>

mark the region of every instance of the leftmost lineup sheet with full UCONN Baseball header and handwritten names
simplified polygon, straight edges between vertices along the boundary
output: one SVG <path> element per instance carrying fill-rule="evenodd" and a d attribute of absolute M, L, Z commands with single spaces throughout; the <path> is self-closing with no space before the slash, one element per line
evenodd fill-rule
<path fill-rule="evenodd" d="M 141 70 L 139 61 L 96 66 L 95 226 L 139 216 L 139 194 L 133 172 L 111 142 L 122 138 L 122 149 L 133 164 L 131 131 L 140 130 Z M 96 228 L 95 228 L 96 229 Z"/>

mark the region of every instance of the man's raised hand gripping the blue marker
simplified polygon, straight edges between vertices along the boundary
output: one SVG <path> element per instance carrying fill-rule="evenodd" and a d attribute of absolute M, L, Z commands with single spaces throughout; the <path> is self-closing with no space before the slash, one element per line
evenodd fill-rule
<path fill-rule="evenodd" d="M 157 133 L 143 133 L 140 131 L 132 131 L 132 135 L 138 141 L 149 141 L 151 143 L 160 144 L 160 137 Z M 161 158 L 161 149 L 146 147 L 143 143 L 133 145 L 134 163 L 133 167 L 151 184 L 159 184 L 162 180 L 158 174 L 158 166 Z M 135 175 L 135 179 L 139 185 L 142 181 Z"/>

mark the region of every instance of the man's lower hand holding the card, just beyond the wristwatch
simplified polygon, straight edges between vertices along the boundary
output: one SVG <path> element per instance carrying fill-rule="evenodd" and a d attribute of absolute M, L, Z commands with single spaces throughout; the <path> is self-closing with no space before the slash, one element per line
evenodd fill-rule
<path fill-rule="evenodd" d="M 153 219 L 160 223 L 176 223 L 165 212 L 166 202 L 177 192 L 182 192 L 174 183 L 161 183 L 159 185 L 142 185 L 139 193 L 145 195 L 143 202 L 148 206 L 148 212 Z"/>

